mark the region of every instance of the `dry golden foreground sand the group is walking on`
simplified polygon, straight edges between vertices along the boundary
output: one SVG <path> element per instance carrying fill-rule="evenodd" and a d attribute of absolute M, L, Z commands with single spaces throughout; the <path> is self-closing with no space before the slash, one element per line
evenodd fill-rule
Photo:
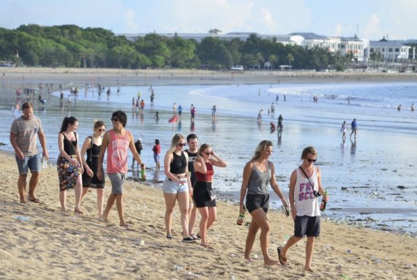
<path fill-rule="evenodd" d="M 176 207 L 172 240 L 165 238 L 165 204 L 161 189 L 128 180 L 124 186 L 126 221 L 118 226 L 97 219 L 95 191 L 83 201 L 83 215 L 60 212 L 55 167 L 42 170 L 36 195 L 42 204 L 20 204 L 13 155 L 0 153 L 0 278 L 1 279 L 299 279 L 305 240 L 288 252 L 288 267 L 263 266 L 259 239 L 253 263 L 243 259 L 247 215 L 236 225 L 238 206 L 218 202 L 218 219 L 208 230 L 213 249 L 181 243 Z M 106 195 L 110 191 L 106 180 Z M 329 203 L 332 203 L 330 200 Z M 69 191 L 68 209 L 74 207 Z M 293 234 L 293 221 L 270 211 L 270 255 Z M 199 220 L 199 219 L 198 219 Z M 197 231 L 197 227 L 195 228 Z M 143 241 L 143 243 L 141 242 Z M 384 231 L 322 221 L 316 240 L 313 279 L 417 279 L 417 239 Z"/>

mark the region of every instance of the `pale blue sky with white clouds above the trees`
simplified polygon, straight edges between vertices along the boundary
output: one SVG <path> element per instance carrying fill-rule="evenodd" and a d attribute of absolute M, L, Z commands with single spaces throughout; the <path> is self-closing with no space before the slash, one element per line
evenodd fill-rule
<path fill-rule="evenodd" d="M 114 33 L 288 34 L 417 39 L 417 0 L 0 0 L 0 27 L 75 24 Z"/>

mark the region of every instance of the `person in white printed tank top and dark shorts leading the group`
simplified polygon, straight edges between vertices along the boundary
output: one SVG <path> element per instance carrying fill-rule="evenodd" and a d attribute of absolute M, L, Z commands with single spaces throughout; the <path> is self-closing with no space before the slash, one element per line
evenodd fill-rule
<path fill-rule="evenodd" d="M 301 155 L 302 164 L 293 171 L 290 178 L 290 204 L 294 220 L 294 235 L 288 239 L 284 247 L 278 247 L 279 263 L 287 264 L 287 252 L 304 236 L 307 236 L 306 261 L 304 271 L 312 272 L 311 258 L 313 256 L 314 240 L 320 236 L 320 209 L 318 196 L 323 195 L 328 200 L 321 184 L 321 172 L 317 161 L 317 152 L 313 147 L 304 148 Z"/>

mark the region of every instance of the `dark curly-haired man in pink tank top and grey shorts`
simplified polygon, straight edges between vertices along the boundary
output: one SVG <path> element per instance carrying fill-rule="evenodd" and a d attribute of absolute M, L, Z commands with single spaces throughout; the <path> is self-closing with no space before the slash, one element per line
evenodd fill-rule
<path fill-rule="evenodd" d="M 116 202 L 121 227 L 128 227 L 128 224 L 124 220 L 123 209 L 123 183 L 126 180 L 127 173 L 127 148 L 131 150 L 138 164 L 142 165 L 142 159 L 140 159 L 140 155 L 135 148 L 133 136 L 131 132 L 124 129 L 126 122 L 126 113 L 123 111 L 113 113 L 111 116 L 113 129 L 108 130 L 104 134 L 99 155 L 99 166 L 102 166 L 104 153 L 107 149 L 107 175 L 111 181 L 111 195 L 108 197 L 106 209 L 101 218 L 106 222 L 109 221 L 108 213 Z M 99 167 L 97 169 L 97 178 L 102 180 L 103 177 L 103 170 Z"/>

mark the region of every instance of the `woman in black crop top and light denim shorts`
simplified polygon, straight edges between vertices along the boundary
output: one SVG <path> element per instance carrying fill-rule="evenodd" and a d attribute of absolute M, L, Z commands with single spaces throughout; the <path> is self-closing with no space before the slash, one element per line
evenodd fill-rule
<path fill-rule="evenodd" d="M 188 207 L 191 189 L 190 177 L 188 176 L 188 155 L 183 152 L 186 139 L 181 134 L 175 134 L 171 141 L 171 148 L 167 150 L 164 158 L 165 181 L 163 182 L 163 195 L 165 198 L 165 227 L 167 238 L 172 234 L 172 213 L 175 202 L 178 200 L 181 211 L 181 226 L 183 229 L 183 242 L 195 243 L 195 239 L 188 234 Z"/>

